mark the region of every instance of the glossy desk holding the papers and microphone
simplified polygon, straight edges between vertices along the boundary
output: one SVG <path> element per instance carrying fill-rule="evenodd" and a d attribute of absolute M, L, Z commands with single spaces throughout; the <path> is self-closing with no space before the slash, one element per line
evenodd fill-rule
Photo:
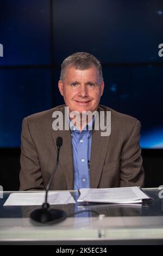
<path fill-rule="evenodd" d="M 3 206 L 9 194 L 0 199 L 0 245 L 163 245 L 163 199 L 158 188 L 143 188 L 153 199 L 142 204 L 115 205 L 82 203 L 52 205 L 65 210 L 96 210 L 67 217 L 53 224 L 33 224 L 29 214 L 38 206 Z M 24 192 L 31 193 L 31 192 Z M 38 192 L 39 193 L 39 192 Z M 78 191 L 71 191 L 77 199 Z M 162 193 L 163 194 L 163 193 Z"/>

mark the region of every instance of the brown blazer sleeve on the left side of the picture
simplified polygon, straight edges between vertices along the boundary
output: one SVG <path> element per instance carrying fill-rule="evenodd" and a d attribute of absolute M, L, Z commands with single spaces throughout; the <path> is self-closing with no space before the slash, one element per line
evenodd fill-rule
<path fill-rule="evenodd" d="M 44 190 L 39 158 L 30 134 L 28 118 L 22 122 L 20 190 Z"/>

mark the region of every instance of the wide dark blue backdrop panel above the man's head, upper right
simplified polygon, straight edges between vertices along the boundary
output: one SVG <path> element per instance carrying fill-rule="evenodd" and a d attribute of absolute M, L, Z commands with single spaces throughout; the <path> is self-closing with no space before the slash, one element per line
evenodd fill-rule
<path fill-rule="evenodd" d="M 55 0 L 53 14 L 55 63 L 79 51 L 102 63 L 163 61 L 161 0 Z"/>

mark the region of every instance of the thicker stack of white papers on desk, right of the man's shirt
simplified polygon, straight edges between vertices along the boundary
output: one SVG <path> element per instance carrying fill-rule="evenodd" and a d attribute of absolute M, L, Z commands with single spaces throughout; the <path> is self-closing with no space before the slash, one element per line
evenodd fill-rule
<path fill-rule="evenodd" d="M 133 204 L 151 199 L 139 187 L 81 188 L 78 202 Z"/>

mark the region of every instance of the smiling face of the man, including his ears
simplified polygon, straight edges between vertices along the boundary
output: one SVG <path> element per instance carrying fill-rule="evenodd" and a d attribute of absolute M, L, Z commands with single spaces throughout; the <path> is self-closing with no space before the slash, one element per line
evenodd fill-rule
<path fill-rule="evenodd" d="M 59 80 L 58 86 L 70 112 L 79 113 L 96 111 L 104 90 L 104 82 L 100 82 L 95 66 L 85 70 L 67 68 L 65 80 Z"/>

